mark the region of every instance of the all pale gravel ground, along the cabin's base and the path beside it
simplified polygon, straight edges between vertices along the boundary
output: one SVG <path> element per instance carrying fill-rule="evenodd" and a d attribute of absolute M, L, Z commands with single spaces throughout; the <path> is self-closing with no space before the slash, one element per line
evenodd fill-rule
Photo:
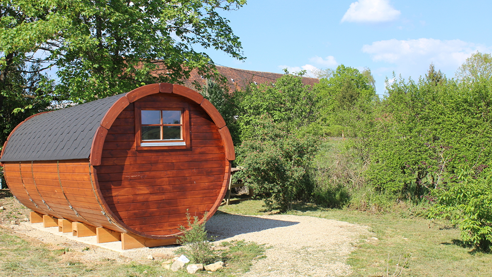
<path fill-rule="evenodd" d="M 0 198 L 0 225 L 30 241 L 47 244 L 50 248 L 71 248 L 64 259 L 80 261 L 147 262 L 152 254 L 156 259 L 174 257 L 178 246 L 139 248 L 123 253 L 85 245 L 68 238 L 31 228 L 22 224 L 29 209 L 11 197 Z M 7 218 L 15 212 L 17 219 Z M 12 213 L 8 213 L 12 214 Z M 21 224 L 19 224 L 21 223 Z M 354 250 L 354 244 L 361 236 L 369 235 L 366 226 L 343 221 L 299 215 L 232 215 L 219 213 L 207 222 L 210 235 L 217 236 L 216 242 L 245 240 L 269 247 L 265 259 L 254 262 L 244 277 L 338 277 L 351 273 L 346 264 L 347 256 Z M 89 246 L 90 250 L 83 249 Z M 238 274 L 239 275 L 239 274 Z"/>

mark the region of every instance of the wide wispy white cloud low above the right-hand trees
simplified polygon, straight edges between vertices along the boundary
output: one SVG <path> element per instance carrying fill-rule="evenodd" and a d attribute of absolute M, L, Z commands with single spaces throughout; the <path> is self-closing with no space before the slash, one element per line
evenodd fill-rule
<path fill-rule="evenodd" d="M 489 52 L 483 45 L 460 39 L 439 40 L 419 38 L 410 40 L 381 40 L 364 45 L 362 51 L 371 55 L 374 62 L 389 62 L 398 66 L 433 62 L 436 66 L 456 69 L 475 51 Z"/>

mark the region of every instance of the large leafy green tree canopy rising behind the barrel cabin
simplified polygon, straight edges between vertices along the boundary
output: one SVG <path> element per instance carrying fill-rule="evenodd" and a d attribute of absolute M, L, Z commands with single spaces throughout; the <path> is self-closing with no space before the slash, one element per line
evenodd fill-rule
<path fill-rule="evenodd" d="M 193 69 L 215 75 L 210 57 L 194 47 L 244 59 L 239 38 L 218 13 L 244 4 L 246 0 L 0 0 L 2 116 L 9 117 L 15 108 L 29 116 L 52 99 L 80 103 L 143 84 L 180 82 Z M 13 104 L 7 109 L 5 101 Z"/>

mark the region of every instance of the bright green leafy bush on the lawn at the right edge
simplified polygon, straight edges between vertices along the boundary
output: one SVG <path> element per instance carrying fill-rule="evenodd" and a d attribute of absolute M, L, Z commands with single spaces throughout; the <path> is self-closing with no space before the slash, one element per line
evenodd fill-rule
<path fill-rule="evenodd" d="M 448 218 L 461 229 L 464 242 L 490 251 L 492 245 L 492 163 L 472 170 L 458 167 L 456 182 L 432 191 L 430 218 Z M 485 168 L 485 169 L 484 169 Z M 483 171 L 482 171 L 483 170 Z"/>

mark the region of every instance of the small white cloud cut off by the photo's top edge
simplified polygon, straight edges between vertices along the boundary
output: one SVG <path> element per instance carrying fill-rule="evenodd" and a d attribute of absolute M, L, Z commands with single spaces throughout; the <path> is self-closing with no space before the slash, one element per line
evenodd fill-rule
<path fill-rule="evenodd" d="M 350 4 L 341 22 L 387 22 L 397 19 L 400 14 L 389 0 L 359 0 Z"/>

